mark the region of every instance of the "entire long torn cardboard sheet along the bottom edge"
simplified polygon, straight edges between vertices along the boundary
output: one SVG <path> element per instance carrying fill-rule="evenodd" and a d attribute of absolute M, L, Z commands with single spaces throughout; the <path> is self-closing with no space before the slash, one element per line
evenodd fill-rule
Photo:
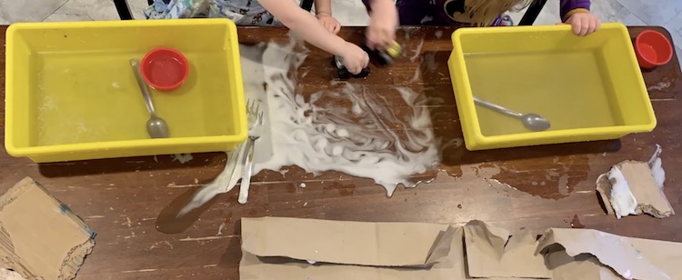
<path fill-rule="evenodd" d="M 682 244 L 586 229 L 551 228 L 536 241 L 480 221 L 456 227 L 263 217 L 242 218 L 242 240 L 242 280 L 682 279 Z"/>

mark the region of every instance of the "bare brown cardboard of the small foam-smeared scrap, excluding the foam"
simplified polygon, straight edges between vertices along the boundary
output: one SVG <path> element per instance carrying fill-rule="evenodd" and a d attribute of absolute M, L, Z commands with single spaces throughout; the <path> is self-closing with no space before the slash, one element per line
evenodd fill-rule
<path fill-rule="evenodd" d="M 637 207 L 635 208 L 637 215 L 646 213 L 657 218 L 675 215 L 675 210 L 668 202 L 663 189 L 658 186 L 647 163 L 624 161 L 615 166 L 620 169 L 630 192 L 637 199 Z M 597 179 L 597 192 L 607 207 L 607 213 L 615 215 L 611 202 L 611 186 L 614 184 L 616 183 L 608 180 L 607 175 L 600 175 Z"/>

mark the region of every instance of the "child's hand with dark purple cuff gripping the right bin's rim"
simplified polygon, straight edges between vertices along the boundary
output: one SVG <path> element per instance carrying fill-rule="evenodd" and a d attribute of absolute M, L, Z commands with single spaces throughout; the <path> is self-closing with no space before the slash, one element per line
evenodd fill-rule
<path fill-rule="evenodd" d="M 590 0 L 561 0 L 561 21 L 573 26 L 576 35 L 588 35 L 599 29 L 601 21 L 589 12 Z"/>

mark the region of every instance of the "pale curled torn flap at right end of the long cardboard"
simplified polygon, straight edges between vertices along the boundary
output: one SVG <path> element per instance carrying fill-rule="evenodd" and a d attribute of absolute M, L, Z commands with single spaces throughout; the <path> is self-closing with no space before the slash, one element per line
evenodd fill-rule
<path fill-rule="evenodd" d="M 641 257 L 627 237 L 591 229 L 550 228 L 538 241 L 536 254 L 547 254 L 551 245 L 561 245 L 567 255 L 589 254 L 625 278 L 667 279 L 667 273 Z"/>

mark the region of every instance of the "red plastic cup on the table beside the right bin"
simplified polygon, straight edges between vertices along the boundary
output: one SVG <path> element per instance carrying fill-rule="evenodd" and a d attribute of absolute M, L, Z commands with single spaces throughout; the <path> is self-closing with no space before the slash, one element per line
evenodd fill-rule
<path fill-rule="evenodd" d="M 670 62 L 673 58 L 673 45 L 660 32 L 645 30 L 635 39 L 635 53 L 640 67 L 652 69 Z"/>

